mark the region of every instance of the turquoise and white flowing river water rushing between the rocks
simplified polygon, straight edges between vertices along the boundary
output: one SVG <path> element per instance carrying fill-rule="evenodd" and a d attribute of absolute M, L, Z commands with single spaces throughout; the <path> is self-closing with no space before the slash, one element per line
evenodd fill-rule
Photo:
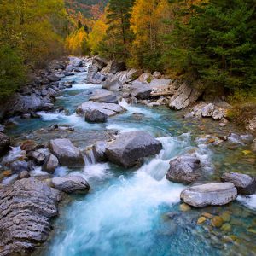
<path fill-rule="evenodd" d="M 70 195 L 60 208 L 49 241 L 35 255 L 60 256 L 143 256 L 143 255 L 256 255 L 256 195 L 238 197 L 224 207 L 181 211 L 182 184 L 166 180 L 169 161 L 179 154 L 195 152 L 204 166 L 206 181 L 219 180 L 226 171 L 255 173 L 255 155 L 248 150 L 250 137 L 231 136 L 220 145 L 208 145 L 206 134 L 244 134 L 230 125 L 222 128 L 212 120 L 184 120 L 168 108 L 146 108 L 120 104 L 127 112 L 108 119 L 106 124 L 88 124 L 75 108 L 90 98 L 100 85 L 85 84 L 86 73 L 74 80 L 73 88 L 60 93 L 55 109 L 68 113 L 41 112 L 41 119 L 14 119 L 9 135 L 20 143 L 33 139 L 48 143 L 56 137 L 69 137 L 84 149 L 108 137 L 113 130 L 148 131 L 163 144 L 159 155 L 131 170 L 110 163 L 96 163 L 89 151 L 84 169 L 60 167 L 55 176 L 80 175 L 90 183 L 88 195 Z M 137 113 L 137 114 L 134 114 Z M 139 114 L 138 114 L 139 113 Z M 142 118 L 137 118 L 137 116 Z M 50 125 L 69 125 L 74 131 L 51 131 Z M 246 152 L 244 154 L 243 152 Z M 14 148 L 8 157 L 20 154 Z M 34 175 L 43 175 L 36 170 Z M 9 182 L 8 179 L 5 180 Z M 68 202 L 67 202 L 68 201 Z M 226 214 L 228 229 L 212 228 L 209 221 L 198 225 L 202 212 Z M 172 218 L 171 218 L 172 216 Z"/>

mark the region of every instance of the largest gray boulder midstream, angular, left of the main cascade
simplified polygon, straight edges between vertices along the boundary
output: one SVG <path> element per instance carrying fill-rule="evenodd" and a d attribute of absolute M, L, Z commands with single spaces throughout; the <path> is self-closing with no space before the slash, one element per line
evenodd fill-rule
<path fill-rule="evenodd" d="M 131 131 L 120 134 L 113 143 L 109 143 L 106 155 L 114 164 L 129 168 L 143 157 L 159 154 L 161 149 L 162 144 L 148 132 Z"/>

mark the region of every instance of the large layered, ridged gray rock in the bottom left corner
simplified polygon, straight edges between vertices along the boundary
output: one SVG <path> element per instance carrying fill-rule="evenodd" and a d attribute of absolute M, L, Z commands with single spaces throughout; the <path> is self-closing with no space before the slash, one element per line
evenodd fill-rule
<path fill-rule="evenodd" d="M 60 200 L 58 190 L 32 177 L 0 187 L 0 255 L 29 253 L 46 241 Z"/>

